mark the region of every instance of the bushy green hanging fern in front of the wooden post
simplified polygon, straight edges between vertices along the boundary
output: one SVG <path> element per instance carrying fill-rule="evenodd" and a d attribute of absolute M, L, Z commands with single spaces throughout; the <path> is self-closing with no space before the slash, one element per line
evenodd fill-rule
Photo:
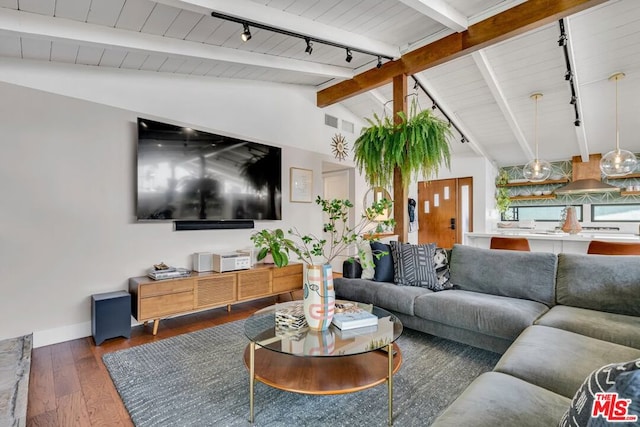
<path fill-rule="evenodd" d="M 360 173 L 371 186 L 391 186 L 396 167 L 405 188 L 420 175 L 436 176 L 443 164 L 450 168 L 449 124 L 435 117 L 430 109 L 417 110 L 414 99 L 408 117 L 398 113 L 399 124 L 376 114 L 373 120 L 367 119 L 370 126 L 363 129 L 353 151 Z"/>

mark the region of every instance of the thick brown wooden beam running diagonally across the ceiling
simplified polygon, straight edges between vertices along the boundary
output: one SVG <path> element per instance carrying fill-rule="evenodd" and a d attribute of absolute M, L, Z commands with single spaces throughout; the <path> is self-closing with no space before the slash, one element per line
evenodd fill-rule
<path fill-rule="evenodd" d="M 408 52 L 399 60 L 389 61 L 380 68 L 329 86 L 317 93 L 316 103 L 318 107 L 327 107 L 390 83 L 396 76 L 419 73 L 606 1 L 529 0 L 471 25 L 466 31 Z"/>

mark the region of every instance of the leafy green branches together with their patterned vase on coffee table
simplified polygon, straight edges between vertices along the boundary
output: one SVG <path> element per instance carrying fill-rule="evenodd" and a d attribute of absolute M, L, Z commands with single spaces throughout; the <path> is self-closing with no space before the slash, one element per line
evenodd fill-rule
<path fill-rule="evenodd" d="M 302 234 L 294 227 L 287 234 L 279 228 L 260 230 L 251 235 L 251 240 L 259 249 L 258 260 L 270 253 L 274 264 L 282 267 L 289 263 L 293 253 L 306 264 L 303 283 L 305 319 L 310 329 L 324 331 L 331 324 L 335 312 L 331 261 L 359 239 L 366 238 L 367 235 L 372 237 L 373 233 L 382 231 L 385 226 L 391 227 L 395 222 L 393 219 L 375 220 L 391 207 L 392 202 L 387 199 L 367 207 L 360 221 L 353 227 L 349 226 L 349 210 L 353 208 L 349 200 L 325 200 L 318 196 L 316 204 L 322 207 L 328 217 L 322 236 Z M 369 230 L 372 224 L 377 226 Z M 318 259 L 322 260 L 321 264 L 318 264 Z"/>

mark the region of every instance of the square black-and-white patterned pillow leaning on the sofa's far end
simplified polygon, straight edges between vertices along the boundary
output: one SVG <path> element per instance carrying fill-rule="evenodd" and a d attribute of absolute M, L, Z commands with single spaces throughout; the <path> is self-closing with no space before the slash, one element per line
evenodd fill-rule
<path fill-rule="evenodd" d="M 436 245 L 412 245 L 390 242 L 393 258 L 394 282 L 402 286 L 438 287 L 433 256 Z"/>

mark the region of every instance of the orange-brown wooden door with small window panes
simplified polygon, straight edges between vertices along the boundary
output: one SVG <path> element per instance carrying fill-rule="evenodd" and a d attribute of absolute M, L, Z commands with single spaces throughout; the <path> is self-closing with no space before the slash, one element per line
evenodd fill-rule
<path fill-rule="evenodd" d="M 471 223 L 472 178 L 441 179 L 418 183 L 418 243 L 452 248 L 462 243 Z"/>

